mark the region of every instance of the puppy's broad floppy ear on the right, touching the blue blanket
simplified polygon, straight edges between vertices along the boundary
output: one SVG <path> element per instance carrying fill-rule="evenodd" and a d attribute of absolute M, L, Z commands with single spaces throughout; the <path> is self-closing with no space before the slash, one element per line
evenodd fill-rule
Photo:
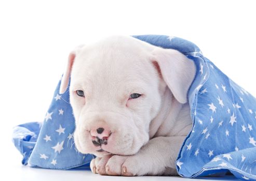
<path fill-rule="evenodd" d="M 194 62 L 177 50 L 162 48 L 153 51 L 152 62 L 173 96 L 180 103 L 186 103 L 187 91 L 196 73 Z"/>

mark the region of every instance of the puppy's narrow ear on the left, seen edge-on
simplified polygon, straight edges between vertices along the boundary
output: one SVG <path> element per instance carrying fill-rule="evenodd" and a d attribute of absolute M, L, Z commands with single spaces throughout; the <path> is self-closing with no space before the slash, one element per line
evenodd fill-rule
<path fill-rule="evenodd" d="M 76 57 L 77 53 L 79 52 L 79 50 L 82 49 L 82 47 L 83 46 L 77 47 L 69 55 L 68 64 L 66 64 L 66 68 L 65 68 L 65 71 L 64 71 L 62 79 L 61 79 L 60 94 L 64 94 L 65 91 L 66 91 L 66 88 L 68 88 L 70 74 L 71 74 L 72 66 L 73 66 L 74 61 L 75 61 L 75 57 Z"/>

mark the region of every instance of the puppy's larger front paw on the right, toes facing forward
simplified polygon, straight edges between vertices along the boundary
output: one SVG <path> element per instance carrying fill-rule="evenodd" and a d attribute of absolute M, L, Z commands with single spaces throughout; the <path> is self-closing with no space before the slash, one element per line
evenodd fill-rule
<path fill-rule="evenodd" d="M 107 175 L 136 176 L 143 165 L 136 156 L 112 156 L 106 163 Z"/>

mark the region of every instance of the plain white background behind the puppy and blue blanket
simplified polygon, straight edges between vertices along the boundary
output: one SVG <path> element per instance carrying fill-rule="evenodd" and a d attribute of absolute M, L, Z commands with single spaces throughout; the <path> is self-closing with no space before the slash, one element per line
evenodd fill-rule
<path fill-rule="evenodd" d="M 255 1 L 1 1 L 1 172 L 17 179 L 42 172 L 21 166 L 11 128 L 42 121 L 69 52 L 105 36 L 159 34 L 190 40 L 256 96 L 255 7 Z"/>

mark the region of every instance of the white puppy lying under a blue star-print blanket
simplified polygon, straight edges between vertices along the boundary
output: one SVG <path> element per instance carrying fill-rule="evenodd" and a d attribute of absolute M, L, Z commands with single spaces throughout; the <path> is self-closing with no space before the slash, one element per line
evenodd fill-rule
<path fill-rule="evenodd" d="M 187 90 L 194 62 L 133 37 L 113 36 L 71 52 L 76 148 L 94 154 L 93 173 L 176 175 L 176 158 L 192 128 Z"/>

